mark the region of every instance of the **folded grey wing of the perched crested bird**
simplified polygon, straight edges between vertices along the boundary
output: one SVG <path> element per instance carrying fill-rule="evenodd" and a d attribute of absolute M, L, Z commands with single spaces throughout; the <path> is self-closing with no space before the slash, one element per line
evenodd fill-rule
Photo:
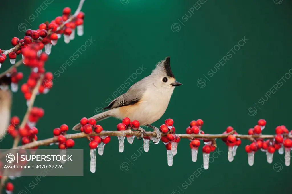
<path fill-rule="evenodd" d="M 142 81 L 142 80 L 141 80 Z M 125 93 L 114 99 L 105 109 L 114 109 L 121 106 L 128 106 L 131 104 L 136 104 L 142 98 L 144 92 L 146 91 L 146 87 L 143 87 L 143 82 L 137 82 L 129 88 L 129 90 Z"/>

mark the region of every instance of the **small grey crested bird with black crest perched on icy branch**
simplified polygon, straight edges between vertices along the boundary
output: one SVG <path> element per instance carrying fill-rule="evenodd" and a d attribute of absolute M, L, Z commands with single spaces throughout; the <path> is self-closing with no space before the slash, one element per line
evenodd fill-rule
<path fill-rule="evenodd" d="M 138 81 L 129 90 L 114 99 L 104 110 L 91 118 L 96 121 L 108 117 L 131 120 L 138 120 L 141 126 L 149 126 L 153 129 L 152 123 L 157 121 L 166 111 L 169 100 L 175 86 L 182 85 L 175 81 L 175 77 L 170 68 L 170 57 L 161 60 L 156 64 L 152 73 Z M 81 124 L 73 127 L 73 130 L 80 130 Z M 157 128 L 154 129 L 155 132 Z M 158 132 L 159 135 L 160 132 Z"/>

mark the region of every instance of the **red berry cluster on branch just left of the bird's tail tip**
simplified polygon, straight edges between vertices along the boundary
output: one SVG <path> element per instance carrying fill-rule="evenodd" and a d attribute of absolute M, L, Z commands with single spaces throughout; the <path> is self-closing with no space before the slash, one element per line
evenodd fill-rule
<path fill-rule="evenodd" d="M 53 130 L 54 137 L 58 137 L 57 144 L 59 144 L 59 149 L 72 148 L 75 145 L 75 142 L 73 139 L 66 139 L 65 137 L 68 130 L 69 130 L 69 127 L 68 125 L 65 125 L 65 124 Z"/>

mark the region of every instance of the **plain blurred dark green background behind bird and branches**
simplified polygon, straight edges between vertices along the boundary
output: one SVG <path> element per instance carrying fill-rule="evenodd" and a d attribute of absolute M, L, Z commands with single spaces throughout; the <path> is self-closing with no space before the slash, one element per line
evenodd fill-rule
<path fill-rule="evenodd" d="M 12 37 L 24 36 L 18 30 L 20 23 L 36 29 L 40 23 L 61 15 L 66 6 L 75 11 L 79 0 L 54 0 L 48 6 L 43 2 L 1 2 L 1 49 L 11 48 Z M 44 118 L 37 124 L 39 139 L 52 137 L 55 127 L 62 124 L 73 127 L 81 117 L 94 115 L 95 109 L 103 107 L 101 103 L 106 104 L 108 98 L 112 99 L 117 88 L 142 64 L 147 69 L 138 78 L 131 78 L 131 85 L 148 76 L 155 64 L 166 56 L 171 56 L 172 71 L 183 85 L 175 89 L 168 109 L 155 126 L 163 124 L 166 118 L 173 118 L 176 131 L 185 133 L 191 120 L 201 118 L 206 133 L 222 133 L 231 125 L 239 134 L 246 134 L 258 119 L 265 118 L 264 134 L 274 134 L 277 125 L 291 129 L 292 79 L 286 74 L 292 68 L 291 1 L 276 4 L 273 0 L 207 0 L 201 7 L 197 1 L 187 0 L 122 3 L 86 0 L 82 9 L 86 14 L 84 35 L 69 45 L 63 38 L 59 39 L 53 46 L 46 69 L 58 73 L 58 70 L 63 71 L 61 65 L 86 40 L 91 37 L 95 40 L 58 78 L 55 76 L 56 81 L 47 95 L 37 97 L 35 105 L 45 110 Z M 45 9 L 37 16 L 40 6 Z M 188 12 L 190 9 L 193 13 Z M 187 21 L 183 20 L 185 14 L 189 16 Z M 210 77 L 208 72 L 211 69 L 215 72 L 215 64 L 244 37 L 248 39 L 244 46 L 232 53 L 232 58 Z M 0 72 L 9 66 L 9 62 L 5 62 Z M 26 67 L 20 67 L 19 71 L 29 74 Z M 274 94 L 266 100 L 265 94 L 285 74 L 287 78 L 283 78 L 281 87 L 273 90 Z M 203 83 L 204 88 L 197 86 L 200 78 L 206 80 L 198 82 L 199 86 Z M 258 102 L 261 98 L 266 100 L 263 105 Z M 27 108 L 23 94 L 15 93 L 13 101 L 12 115 L 22 118 Z M 104 130 L 115 130 L 118 123 L 114 118 L 100 122 Z M 10 148 L 12 141 L 6 137 L 1 148 Z M 168 167 L 166 149 L 161 142 L 151 144 L 148 153 L 141 153 L 142 141 L 135 139 L 130 145 L 125 140 L 125 151 L 119 153 L 117 137 L 113 137 L 105 146 L 104 154 L 97 155 L 97 172 L 92 174 L 88 142 L 78 139 L 75 148 L 84 149 L 83 177 L 47 176 L 39 182 L 35 177 L 21 177 L 11 182 L 15 193 L 21 190 L 27 193 L 291 193 L 292 171 L 281 161 L 284 161 L 283 155 L 275 153 L 273 163 L 268 164 L 265 153 L 256 153 L 255 163 L 250 167 L 244 151 L 246 140 L 237 149 L 233 162 L 227 160 L 227 146 L 221 140 L 217 143 L 219 157 L 210 163 L 208 170 L 199 174 L 203 163 L 201 149 L 198 161 L 192 162 L 186 139 L 178 145 L 173 166 Z M 129 164 L 126 172 L 121 170 L 123 162 Z M 280 172 L 276 172 L 279 169 Z M 193 180 L 190 177 L 194 177 Z M 28 187 L 32 181 L 36 185 L 33 189 Z M 186 183 L 187 188 L 183 186 Z"/>

